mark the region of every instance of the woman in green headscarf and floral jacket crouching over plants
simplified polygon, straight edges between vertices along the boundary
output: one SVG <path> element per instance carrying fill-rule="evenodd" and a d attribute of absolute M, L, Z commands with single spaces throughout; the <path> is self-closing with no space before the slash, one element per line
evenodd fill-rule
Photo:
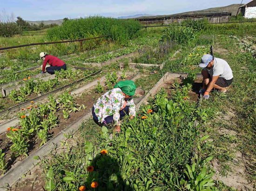
<path fill-rule="evenodd" d="M 94 121 L 99 125 L 115 124 L 115 131 L 121 131 L 120 120 L 125 115 L 133 119 L 136 115 L 135 103 L 132 99 L 136 90 L 135 83 L 130 80 L 121 81 L 114 89 L 106 92 L 95 103 L 92 109 Z"/>

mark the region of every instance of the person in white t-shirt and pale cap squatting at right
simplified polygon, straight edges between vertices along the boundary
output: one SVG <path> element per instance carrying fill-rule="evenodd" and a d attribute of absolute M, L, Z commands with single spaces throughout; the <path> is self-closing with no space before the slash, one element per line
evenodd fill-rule
<path fill-rule="evenodd" d="M 213 88 L 221 93 L 227 93 L 226 87 L 233 82 L 233 73 L 225 60 L 206 54 L 202 56 L 199 66 L 203 68 L 203 87 L 200 93 L 205 99 L 209 99 L 209 93 Z"/>

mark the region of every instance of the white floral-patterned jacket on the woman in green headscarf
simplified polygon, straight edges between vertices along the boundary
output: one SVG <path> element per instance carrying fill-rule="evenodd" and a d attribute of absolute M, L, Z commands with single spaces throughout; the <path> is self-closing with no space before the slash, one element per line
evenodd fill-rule
<path fill-rule="evenodd" d="M 123 107 L 125 98 L 120 88 L 114 88 L 104 95 L 102 95 L 94 103 L 94 112 L 98 117 L 99 122 L 103 123 L 104 119 L 110 115 L 113 115 L 116 125 L 120 125 L 120 110 Z M 133 99 L 127 101 L 129 106 L 129 115 L 136 115 L 135 103 Z"/>

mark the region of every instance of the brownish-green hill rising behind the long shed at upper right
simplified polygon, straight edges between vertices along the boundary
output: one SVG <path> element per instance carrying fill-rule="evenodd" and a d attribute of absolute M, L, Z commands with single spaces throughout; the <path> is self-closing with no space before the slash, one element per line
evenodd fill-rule
<path fill-rule="evenodd" d="M 157 15 L 157 16 L 149 16 L 149 17 L 139 17 L 139 19 L 142 18 L 158 18 L 158 17 L 174 17 L 177 15 L 188 15 L 188 14 L 209 14 L 209 13 L 223 13 L 223 12 L 231 12 L 232 15 L 236 15 L 237 10 L 240 6 L 243 6 L 244 4 L 232 4 L 229 6 L 220 6 L 220 7 L 214 7 L 209 9 L 203 9 L 199 11 L 189 11 L 184 13 L 175 13 L 171 15 Z"/>

